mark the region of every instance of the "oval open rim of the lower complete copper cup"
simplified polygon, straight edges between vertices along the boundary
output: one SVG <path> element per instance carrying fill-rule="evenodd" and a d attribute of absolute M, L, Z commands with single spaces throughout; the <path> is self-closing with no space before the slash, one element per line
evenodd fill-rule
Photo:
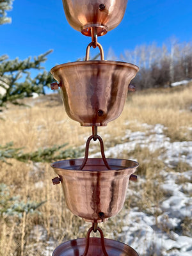
<path fill-rule="evenodd" d="M 117 169 L 113 168 L 111 170 L 108 170 L 108 168 L 106 168 L 105 164 L 102 162 L 102 158 L 88 158 L 86 164 L 88 164 L 88 166 L 89 165 L 94 166 L 94 163 L 91 163 L 91 162 L 99 161 L 99 163 L 100 163 L 99 165 L 103 165 L 106 168 L 105 170 L 87 170 L 87 169 L 86 170 L 84 170 L 84 169 L 83 170 L 78 170 L 77 164 L 76 165 L 73 165 L 73 164 L 70 165 L 70 162 L 72 163 L 72 162 L 79 161 L 79 162 L 83 163 L 83 160 L 84 160 L 83 158 L 78 158 L 78 159 L 76 158 L 76 159 L 67 159 L 67 160 L 56 161 L 56 162 L 51 164 L 51 167 L 56 168 L 56 169 L 60 169 L 60 170 L 75 171 L 77 173 L 82 173 L 82 172 L 83 173 L 86 173 L 86 172 L 87 173 L 90 173 L 90 172 L 92 172 L 92 173 L 98 173 L 98 172 L 102 172 L 102 173 L 111 173 L 111 172 L 113 172 L 113 173 L 116 173 L 116 172 L 122 172 L 124 170 L 129 170 L 129 169 L 131 170 L 131 169 L 134 169 L 134 168 L 138 168 L 138 166 L 140 165 L 137 161 L 134 161 L 134 160 L 115 159 L 115 158 L 106 158 L 106 160 L 109 161 L 109 162 L 113 162 L 113 161 L 115 162 L 114 164 L 109 163 L 109 166 L 110 165 L 115 166 L 115 164 L 118 164 L 118 162 L 120 164 L 120 163 L 122 163 L 122 161 L 127 163 L 127 165 L 128 165 L 128 163 L 130 163 L 131 166 L 126 166 L 124 164 L 124 166 L 122 166 L 122 168 L 121 168 L 120 165 L 116 165 L 116 166 L 118 166 Z M 68 163 L 68 165 L 66 166 L 65 163 Z M 72 166 L 74 166 L 74 167 L 76 166 L 76 168 L 71 169 Z M 79 166 L 81 166 L 81 163 L 79 163 Z"/>

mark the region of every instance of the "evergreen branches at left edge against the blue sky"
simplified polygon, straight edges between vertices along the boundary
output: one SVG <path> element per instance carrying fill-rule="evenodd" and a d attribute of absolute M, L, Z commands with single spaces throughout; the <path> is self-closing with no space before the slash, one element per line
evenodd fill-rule
<path fill-rule="evenodd" d="M 6 17 L 6 10 L 12 9 L 12 0 L 0 0 L 0 25 L 11 22 L 11 19 Z M 52 82 L 50 72 L 43 71 L 35 77 L 31 77 L 31 69 L 42 70 L 44 63 L 52 50 L 40 54 L 31 60 L 31 57 L 26 60 L 8 60 L 7 55 L 0 56 L 0 110 L 6 106 L 7 102 L 19 104 L 18 99 L 31 97 L 33 93 L 45 93 L 44 86 L 49 86 Z"/>

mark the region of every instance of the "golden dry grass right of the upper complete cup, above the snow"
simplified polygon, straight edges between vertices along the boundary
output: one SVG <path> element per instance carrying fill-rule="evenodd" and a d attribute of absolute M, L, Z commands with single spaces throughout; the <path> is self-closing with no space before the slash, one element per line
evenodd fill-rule
<path fill-rule="evenodd" d="M 192 84 L 186 88 L 132 93 L 131 97 L 128 95 L 120 122 L 129 120 L 133 124 L 163 124 L 172 140 L 191 140 L 191 93 Z"/>

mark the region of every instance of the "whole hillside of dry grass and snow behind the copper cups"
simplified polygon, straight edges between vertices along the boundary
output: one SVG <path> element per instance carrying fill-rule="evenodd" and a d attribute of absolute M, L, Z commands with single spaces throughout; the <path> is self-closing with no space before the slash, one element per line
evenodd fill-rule
<path fill-rule="evenodd" d="M 128 94 L 120 117 L 99 127 L 107 157 L 140 163 L 124 209 L 100 224 L 104 236 L 132 246 L 140 256 L 191 255 L 192 84 Z M 68 157 L 84 156 L 92 129 L 70 120 L 60 95 L 22 101 L 0 113 L 0 141 L 23 154 L 67 143 Z M 97 156 L 98 143 L 90 145 Z M 11 150 L 11 149 L 10 149 Z M 0 149 L 1 156 L 2 150 Z M 11 151 L 10 153 L 11 154 Z M 71 157 L 70 157 L 71 158 Z M 0 255 L 52 255 L 62 241 L 84 237 L 90 223 L 65 207 L 56 175 L 43 161 L 4 156 L 0 173 Z"/>

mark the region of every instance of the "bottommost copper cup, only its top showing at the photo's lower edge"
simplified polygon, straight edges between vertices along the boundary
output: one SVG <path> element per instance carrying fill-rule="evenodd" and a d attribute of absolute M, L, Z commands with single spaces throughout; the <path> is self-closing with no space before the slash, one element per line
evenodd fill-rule
<path fill-rule="evenodd" d="M 112 239 L 104 239 L 106 251 L 109 256 L 139 256 L 138 253 L 127 244 Z M 60 244 L 52 256 L 81 256 L 86 245 L 86 238 L 78 238 Z M 90 237 L 90 248 L 88 255 L 102 256 L 100 237 Z"/>

